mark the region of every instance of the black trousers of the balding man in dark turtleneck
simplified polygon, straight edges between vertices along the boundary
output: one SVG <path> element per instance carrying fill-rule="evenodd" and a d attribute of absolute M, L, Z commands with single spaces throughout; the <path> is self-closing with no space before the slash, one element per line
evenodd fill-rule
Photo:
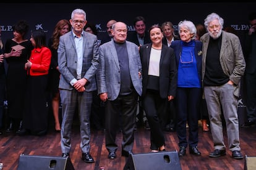
<path fill-rule="evenodd" d="M 105 105 L 106 148 L 116 152 L 116 133 L 119 121 L 122 121 L 122 150 L 132 152 L 134 146 L 134 127 L 137 111 L 138 94 L 133 91 L 128 95 L 119 95 L 116 100 L 107 100 Z M 120 119 L 121 115 L 121 119 Z"/>

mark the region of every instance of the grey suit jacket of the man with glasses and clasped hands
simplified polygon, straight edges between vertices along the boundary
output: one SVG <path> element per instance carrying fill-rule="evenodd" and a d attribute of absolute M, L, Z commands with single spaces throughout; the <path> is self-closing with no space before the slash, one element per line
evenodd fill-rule
<path fill-rule="evenodd" d="M 98 68 L 98 42 L 94 34 L 83 31 L 83 65 L 82 78 L 88 79 L 86 91 L 96 90 L 95 74 Z M 72 90 L 72 79 L 77 79 L 77 52 L 72 31 L 59 38 L 58 65 L 61 72 L 59 88 Z"/>

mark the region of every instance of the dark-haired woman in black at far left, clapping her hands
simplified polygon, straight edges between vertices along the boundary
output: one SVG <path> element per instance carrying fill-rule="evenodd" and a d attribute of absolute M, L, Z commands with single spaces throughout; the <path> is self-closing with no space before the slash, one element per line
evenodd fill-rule
<path fill-rule="evenodd" d="M 7 68 L 7 116 L 10 118 L 6 132 L 17 129 L 20 132 L 22 115 L 24 112 L 24 96 L 27 73 L 24 65 L 33 49 L 32 43 L 25 38 L 28 32 L 28 23 L 20 20 L 12 26 L 14 38 L 7 39 L 4 57 L 8 63 Z"/>

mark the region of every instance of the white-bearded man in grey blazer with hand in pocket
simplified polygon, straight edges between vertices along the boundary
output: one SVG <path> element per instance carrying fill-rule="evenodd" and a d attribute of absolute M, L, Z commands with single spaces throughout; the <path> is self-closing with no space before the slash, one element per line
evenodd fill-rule
<path fill-rule="evenodd" d="M 205 18 L 208 33 L 201 37 L 203 90 L 210 119 L 214 151 L 210 157 L 226 155 L 221 110 L 228 134 L 228 148 L 234 159 L 242 159 L 239 140 L 237 99 L 245 60 L 239 38 L 222 31 L 223 18 L 212 13 Z"/>

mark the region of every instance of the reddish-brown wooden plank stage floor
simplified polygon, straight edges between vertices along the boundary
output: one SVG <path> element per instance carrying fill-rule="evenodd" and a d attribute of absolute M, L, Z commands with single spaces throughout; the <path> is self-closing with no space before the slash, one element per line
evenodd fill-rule
<path fill-rule="evenodd" d="M 179 158 L 182 169 L 244 169 L 245 159 L 234 160 L 231 158 L 231 152 L 227 149 L 226 155 L 219 158 L 209 158 L 208 154 L 213 151 L 213 142 L 211 140 L 211 132 L 202 132 L 199 128 L 198 150 L 202 152 L 202 156 L 193 156 L 189 154 Z M 227 143 L 226 130 L 224 130 L 224 140 Z M 105 132 L 91 131 L 91 155 L 95 159 L 95 163 L 84 163 L 81 160 L 80 151 L 80 134 L 79 126 L 74 125 L 72 130 L 72 151 L 70 152 L 70 160 L 75 169 L 101 169 L 105 170 L 121 170 L 126 164 L 126 158 L 121 156 L 121 132 L 117 133 L 117 158 L 115 160 L 108 159 L 108 152 L 105 148 Z M 134 154 L 150 152 L 150 131 L 139 128 L 135 131 Z M 176 132 L 165 132 L 167 151 L 178 150 L 178 140 Z M 256 156 L 256 127 L 247 129 L 241 128 L 241 152 L 244 155 Z M 2 134 L 0 136 L 0 163 L 4 164 L 3 169 L 17 169 L 20 154 L 25 155 L 42 155 L 42 156 L 60 156 L 60 134 L 54 131 L 54 127 L 49 127 L 48 134 L 45 136 L 17 136 L 15 134 Z M 154 160 L 148 160 L 154 161 Z M 36 163 L 36 162 L 32 162 Z M 158 164 L 158 162 L 155 162 Z M 171 168 L 170 168 L 171 169 Z M 144 170 L 144 169 L 142 169 Z"/>

